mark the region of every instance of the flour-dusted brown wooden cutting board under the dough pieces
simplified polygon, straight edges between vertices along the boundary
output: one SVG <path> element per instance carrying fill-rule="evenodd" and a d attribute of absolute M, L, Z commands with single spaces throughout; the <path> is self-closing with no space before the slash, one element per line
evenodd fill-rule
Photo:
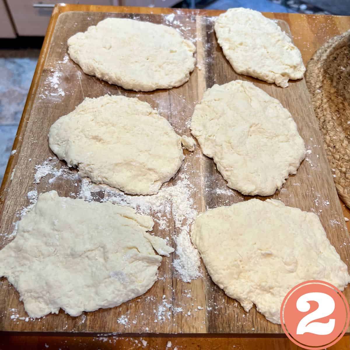
<path fill-rule="evenodd" d="M 319 215 L 331 244 L 334 245 L 342 260 L 349 264 L 350 253 L 347 248 L 350 244 L 349 235 L 345 228 L 305 81 L 290 82 L 288 88 L 282 89 L 257 79 L 237 75 L 217 44 L 213 19 L 198 13 L 201 14 L 197 11 L 196 15 L 184 16 L 175 12 L 174 18 L 169 23 L 169 18 L 155 14 L 66 12 L 57 16 L 54 12 L 43 46 L 42 59 L 38 65 L 15 140 L 14 148 L 17 151 L 10 158 L 1 187 L 1 247 L 9 242 L 5 235 L 13 231 L 13 223 L 18 220 L 16 212 L 29 204 L 27 193 L 34 186 L 35 166 L 48 157 L 54 156 L 48 147 L 49 127 L 59 117 L 71 112 L 84 97 L 99 97 L 106 93 L 137 97 L 158 108 L 160 114 L 169 120 L 177 133 L 190 135 L 188 122 L 203 92 L 214 84 L 243 79 L 253 82 L 280 100 L 282 105 L 292 113 L 309 150 L 297 174 L 290 176 L 283 188 L 269 198 L 279 199 L 286 205 L 313 211 Z M 170 90 L 137 93 L 85 75 L 79 66 L 67 57 L 67 39 L 107 17 L 134 18 L 172 25 L 179 29 L 186 38 L 194 41 L 197 49 L 198 63 L 189 81 Z M 279 25 L 288 31 L 285 22 L 280 21 Z M 60 83 L 57 86 L 52 78 L 56 72 L 61 72 Z M 251 198 L 236 191 L 231 191 L 231 194 L 217 194 L 215 189 L 227 189 L 227 187 L 213 160 L 205 157 L 199 147 L 193 153 L 187 151 L 184 153 L 186 155 L 184 166 L 168 186 L 177 182 L 186 167 L 190 174 L 189 181 L 195 188 L 193 200 L 198 212 Z M 49 177 L 45 177 L 37 188 L 39 193 L 54 189 L 60 196 L 77 193 L 75 182 L 69 179 L 58 179 L 49 183 Z M 168 218 L 168 221 L 169 227 L 173 228 L 175 233 L 179 233 L 179 229 L 176 229 L 173 224 L 173 218 Z M 163 237 L 169 234 L 161 230 L 158 225 L 155 225 L 154 232 Z M 249 313 L 245 313 L 238 302 L 227 297 L 211 281 L 203 265 L 203 277 L 190 283 L 182 282 L 172 267 L 172 261 L 175 258 L 176 254 L 172 254 L 170 258 L 163 259 L 159 268 L 160 279 L 146 294 L 119 307 L 100 309 L 78 317 L 70 317 L 61 310 L 58 315 L 47 315 L 39 320 L 19 319 L 18 317 L 27 316 L 22 302 L 19 301 L 19 294 L 6 279 L 2 278 L 0 280 L 0 330 L 78 332 L 99 335 L 120 333 L 142 336 L 154 333 L 169 335 L 179 333 L 278 335 L 283 333 L 280 325 L 268 322 L 255 307 Z M 349 299 L 349 287 L 344 293 Z M 174 307 L 181 307 L 183 312 L 174 312 L 172 308 L 165 306 L 166 317 L 159 321 L 156 314 L 159 306 L 163 306 L 163 299 Z M 203 309 L 198 309 L 198 306 Z M 127 316 L 129 322 L 123 324 L 118 321 L 121 316 Z M 133 320 L 135 323 L 132 322 Z"/>

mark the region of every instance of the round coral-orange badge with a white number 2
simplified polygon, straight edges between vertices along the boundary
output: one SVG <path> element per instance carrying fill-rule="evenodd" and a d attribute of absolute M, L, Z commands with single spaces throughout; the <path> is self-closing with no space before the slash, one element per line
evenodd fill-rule
<path fill-rule="evenodd" d="M 335 344 L 349 327 L 350 310 L 344 294 L 323 281 L 306 281 L 292 288 L 281 306 L 287 337 L 304 349 Z"/>

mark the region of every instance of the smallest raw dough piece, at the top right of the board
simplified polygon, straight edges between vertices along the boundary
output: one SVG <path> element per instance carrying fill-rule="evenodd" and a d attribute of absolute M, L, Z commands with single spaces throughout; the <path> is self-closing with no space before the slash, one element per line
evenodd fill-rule
<path fill-rule="evenodd" d="M 215 33 L 225 57 L 239 74 L 287 87 L 301 79 L 305 67 L 290 37 L 260 12 L 231 8 L 215 22 Z"/>

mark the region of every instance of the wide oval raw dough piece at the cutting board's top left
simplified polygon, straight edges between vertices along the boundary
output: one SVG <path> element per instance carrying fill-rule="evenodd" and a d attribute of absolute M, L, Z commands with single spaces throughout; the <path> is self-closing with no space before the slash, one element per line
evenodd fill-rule
<path fill-rule="evenodd" d="M 130 19 L 107 18 L 68 48 L 86 74 L 135 91 L 180 86 L 195 66 L 195 46 L 174 28 Z"/>

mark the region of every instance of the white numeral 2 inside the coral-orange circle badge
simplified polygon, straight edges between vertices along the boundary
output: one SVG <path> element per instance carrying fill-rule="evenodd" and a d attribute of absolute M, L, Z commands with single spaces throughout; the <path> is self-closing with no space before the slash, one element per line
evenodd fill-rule
<path fill-rule="evenodd" d="M 329 316 L 334 311 L 335 302 L 333 298 L 325 293 L 306 293 L 296 301 L 296 308 L 300 312 L 309 311 L 310 304 L 308 301 L 316 301 L 318 303 L 318 308 L 300 320 L 296 328 L 296 334 L 304 334 L 306 332 L 317 335 L 331 334 L 335 326 L 334 318 L 331 318 L 327 323 L 313 321 Z"/>

